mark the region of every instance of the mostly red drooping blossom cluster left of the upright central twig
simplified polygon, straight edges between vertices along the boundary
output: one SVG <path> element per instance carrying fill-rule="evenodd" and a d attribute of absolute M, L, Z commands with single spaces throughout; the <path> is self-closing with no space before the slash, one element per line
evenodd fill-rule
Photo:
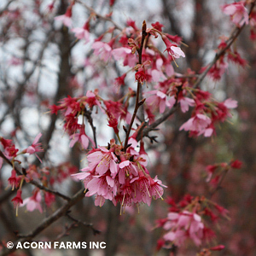
<path fill-rule="evenodd" d="M 108 126 L 113 127 L 113 130 L 118 133 L 117 126 L 120 119 L 124 119 L 128 124 L 131 121 L 131 113 L 128 112 L 128 101 L 132 96 L 134 96 L 134 92 L 129 90 L 126 94 L 125 102 L 123 99 L 113 102 L 111 100 L 103 100 L 98 95 L 98 90 L 94 90 L 94 92 L 88 90 L 85 96 L 67 96 L 59 105 L 50 106 L 50 110 L 51 113 L 55 114 L 61 111 L 65 121 L 63 128 L 67 131 L 71 140 L 69 146 L 72 148 L 75 143 L 79 143 L 82 148 L 86 149 L 90 143 L 93 147 L 96 147 L 96 143 L 85 133 L 84 118 L 88 119 L 92 125 L 90 113 L 94 107 L 100 108 L 102 113 L 107 115 Z M 79 120 L 79 117 L 82 117 L 82 119 Z"/>

